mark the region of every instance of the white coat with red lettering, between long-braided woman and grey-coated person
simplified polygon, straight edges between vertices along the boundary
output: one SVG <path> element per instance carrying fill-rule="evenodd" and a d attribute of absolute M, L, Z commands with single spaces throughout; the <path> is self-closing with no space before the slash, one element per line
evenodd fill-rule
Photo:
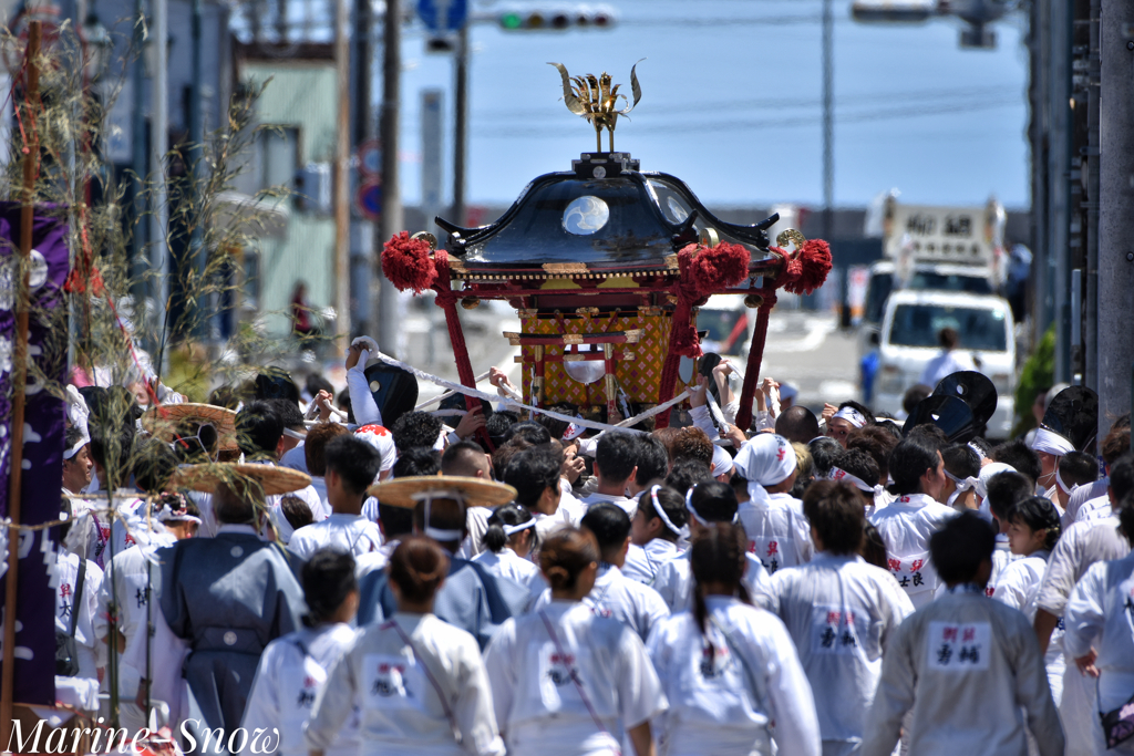
<path fill-rule="evenodd" d="M 772 576 L 778 614 L 811 681 L 823 741 L 861 742 L 882 653 L 914 608 L 894 578 L 862 557 L 820 552 Z"/>

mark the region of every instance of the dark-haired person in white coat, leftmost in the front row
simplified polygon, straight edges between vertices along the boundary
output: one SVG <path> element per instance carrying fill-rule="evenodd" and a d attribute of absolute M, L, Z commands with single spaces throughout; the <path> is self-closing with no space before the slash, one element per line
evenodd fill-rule
<path fill-rule="evenodd" d="M 278 730 L 276 753 L 280 756 L 306 756 L 304 724 L 327 683 L 328 672 L 355 639 L 349 625 L 358 611 L 354 558 L 342 551 L 320 549 L 303 566 L 302 581 L 307 603 L 304 627 L 264 648 L 240 722 L 247 732 L 256 728 Z M 358 753 L 357 716 L 352 715 L 332 733 L 327 751 L 335 756 Z"/>

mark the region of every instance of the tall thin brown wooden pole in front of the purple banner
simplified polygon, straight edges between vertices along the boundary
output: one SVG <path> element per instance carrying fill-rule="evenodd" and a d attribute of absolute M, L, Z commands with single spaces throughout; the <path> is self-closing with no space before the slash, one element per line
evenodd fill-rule
<path fill-rule="evenodd" d="M 32 257 L 32 224 L 35 216 L 35 173 L 40 161 L 40 142 L 35 117 L 40 109 L 40 22 L 32 22 L 27 39 L 27 91 L 24 95 L 24 118 L 29 142 L 24 154 L 24 205 L 19 216 L 19 272 L 16 291 L 16 348 L 11 372 L 11 460 L 8 478 L 8 518 L 19 524 L 19 495 L 24 483 L 24 390 L 27 385 L 27 311 L 28 261 Z M 12 727 L 12 695 L 16 682 L 16 589 L 19 571 L 19 532 L 8 529 L 8 576 L 3 614 L 3 676 L 0 679 L 0 744 L 8 747 Z"/>

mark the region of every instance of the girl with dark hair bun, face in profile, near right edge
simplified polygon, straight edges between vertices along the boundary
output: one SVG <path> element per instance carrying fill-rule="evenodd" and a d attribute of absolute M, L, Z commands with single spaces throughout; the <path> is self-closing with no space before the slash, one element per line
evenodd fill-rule
<path fill-rule="evenodd" d="M 1059 511 L 1048 499 L 1031 496 L 1009 509 L 1007 520 L 1008 547 L 1015 559 L 997 576 L 996 585 L 989 587 L 993 598 L 1018 609 L 1029 620 L 1035 621 L 1040 583 L 1061 533 Z M 1043 666 L 1048 671 L 1048 685 L 1051 686 L 1056 706 L 1063 698 L 1063 679 L 1067 671 L 1063 636 L 1064 630 L 1057 625 L 1043 653 Z"/>

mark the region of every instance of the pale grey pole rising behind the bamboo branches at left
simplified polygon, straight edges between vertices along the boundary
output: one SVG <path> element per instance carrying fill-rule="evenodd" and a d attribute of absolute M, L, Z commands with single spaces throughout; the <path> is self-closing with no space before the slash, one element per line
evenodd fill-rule
<path fill-rule="evenodd" d="M 153 145 L 154 192 L 152 270 L 155 275 L 153 297 L 160 325 L 158 360 L 153 368 L 164 375 L 169 358 L 169 204 L 166 187 L 166 153 L 169 152 L 169 17 L 167 0 L 153 3 L 153 120 L 150 144 Z"/>

